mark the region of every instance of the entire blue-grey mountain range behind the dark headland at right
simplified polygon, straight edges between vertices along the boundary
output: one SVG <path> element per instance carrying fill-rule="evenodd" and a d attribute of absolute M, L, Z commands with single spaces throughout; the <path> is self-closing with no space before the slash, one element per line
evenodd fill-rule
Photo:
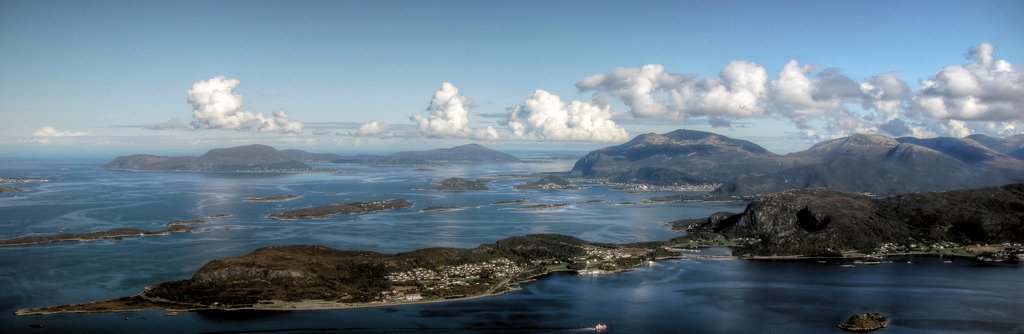
<path fill-rule="evenodd" d="M 591 152 L 572 176 L 648 184 L 721 183 L 720 196 L 754 196 L 805 187 L 896 194 L 999 185 L 1024 180 L 1022 138 L 892 138 L 855 134 L 776 155 L 720 134 L 676 130 L 639 135 Z M 986 144 L 987 142 L 987 144 Z M 989 145 L 1001 150 L 993 150 Z"/>

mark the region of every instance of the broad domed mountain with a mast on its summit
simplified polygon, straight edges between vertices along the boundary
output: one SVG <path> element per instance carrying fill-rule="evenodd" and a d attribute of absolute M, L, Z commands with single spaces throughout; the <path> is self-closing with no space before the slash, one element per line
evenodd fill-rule
<path fill-rule="evenodd" d="M 751 141 L 676 130 L 641 134 L 626 143 L 591 152 L 577 161 L 569 175 L 648 184 L 718 183 L 793 164 Z"/>

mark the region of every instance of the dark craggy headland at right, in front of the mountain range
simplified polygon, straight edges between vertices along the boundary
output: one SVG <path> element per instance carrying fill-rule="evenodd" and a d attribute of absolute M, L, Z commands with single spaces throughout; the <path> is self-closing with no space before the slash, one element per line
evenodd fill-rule
<path fill-rule="evenodd" d="M 691 228 L 754 238 L 737 249 L 755 255 L 827 255 L 883 243 L 1024 242 L 1024 184 L 871 198 L 831 190 L 764 197 L 739 214 L 717 214 Z"/>

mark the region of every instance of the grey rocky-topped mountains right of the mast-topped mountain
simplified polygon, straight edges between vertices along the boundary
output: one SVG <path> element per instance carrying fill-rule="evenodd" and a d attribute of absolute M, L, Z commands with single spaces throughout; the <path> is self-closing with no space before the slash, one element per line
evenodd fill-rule
<path fill-rule="evenodd" d="M 740 176 L 715 191 L 754 196 L 805 187 L 870 194 L 963 190 L 1024 181 L 1024 163 L 971 139 L 855 134 L 786 155 L 798 166 Z"/>

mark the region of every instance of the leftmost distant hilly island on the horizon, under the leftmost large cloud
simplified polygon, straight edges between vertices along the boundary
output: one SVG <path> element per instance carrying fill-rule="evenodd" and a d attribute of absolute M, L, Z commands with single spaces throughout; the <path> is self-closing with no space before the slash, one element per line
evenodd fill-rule
<path fill-rule="evenodd" d="M 213 149 L 199 157 L 133 155 L 118 157 L 103 168 L 135 171 L 252 172 L 309 169 L 271 147 L 250 144 Z"/>

